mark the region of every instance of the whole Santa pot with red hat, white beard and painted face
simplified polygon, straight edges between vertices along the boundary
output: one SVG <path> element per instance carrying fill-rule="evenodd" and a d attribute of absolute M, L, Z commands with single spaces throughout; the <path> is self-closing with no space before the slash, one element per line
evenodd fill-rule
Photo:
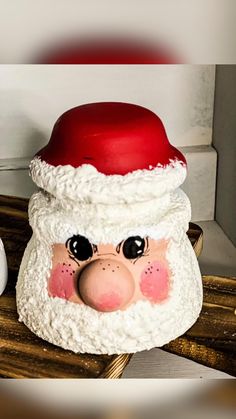
<path fill-rule="evenodd" d="M 74 352 L 162 346 L 196 321 L 201 275 L 184 156 L 141 106 L 78 106 L 30 164 L 40 188 L 17 282 L 20 321 Z"/>

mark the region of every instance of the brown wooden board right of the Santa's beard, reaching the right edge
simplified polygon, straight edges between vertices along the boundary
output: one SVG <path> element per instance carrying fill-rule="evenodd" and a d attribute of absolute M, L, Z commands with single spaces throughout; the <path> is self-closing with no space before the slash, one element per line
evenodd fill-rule
<path fill-rule="evenodd" d="M 198 321 L 163 349 L 236 376 L 236 278 L 202 279 L 204 297 Z"/>

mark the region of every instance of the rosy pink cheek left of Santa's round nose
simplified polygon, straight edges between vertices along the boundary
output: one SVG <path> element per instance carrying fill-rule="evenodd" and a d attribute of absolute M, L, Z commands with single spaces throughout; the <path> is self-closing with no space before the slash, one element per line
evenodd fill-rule
<path fill-rule="evenodd" d="M 75 271 L 70 266 L 58 263 L 53 269 L 48 282 L 50 297 L 69 300 L 74 292 L 74 274 Z"/>

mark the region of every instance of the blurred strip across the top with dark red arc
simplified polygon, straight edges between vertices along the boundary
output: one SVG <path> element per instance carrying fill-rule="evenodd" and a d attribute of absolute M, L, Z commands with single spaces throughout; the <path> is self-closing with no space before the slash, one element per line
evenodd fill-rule
<path fill-rule="evenodd" d="M 235 12 L 234 0 L 0 0 L 0 63 L 91 63 L 84 42 L 113 36 L 135 44 L 134 63 L 236 63 Z"/>

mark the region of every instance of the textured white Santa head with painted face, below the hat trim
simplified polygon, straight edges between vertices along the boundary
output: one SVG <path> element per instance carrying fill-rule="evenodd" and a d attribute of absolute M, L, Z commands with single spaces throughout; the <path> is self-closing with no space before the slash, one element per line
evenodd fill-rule
<path fill-rule="evenodd" d="M 180 190 L 129 205 L 36 193 L 16 287 L 19 320 L 80 353 L 134 353 L 182 335 L 202 305 L 189 218 Z"/>

